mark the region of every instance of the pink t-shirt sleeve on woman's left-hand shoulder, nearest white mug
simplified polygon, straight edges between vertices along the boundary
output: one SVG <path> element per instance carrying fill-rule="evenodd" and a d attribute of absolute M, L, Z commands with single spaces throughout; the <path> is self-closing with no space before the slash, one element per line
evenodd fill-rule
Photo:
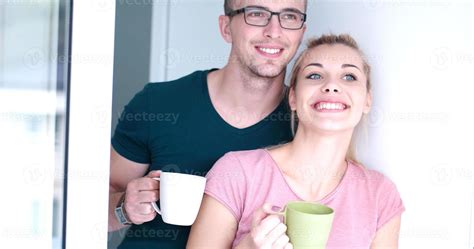
<path fill-rule="evenodd" d="M 205 193 L 227 207 L 240 220 L 246 191 L 246 177 L 240 161 L 232 153 L 221 157 L 206 175 Z"/>

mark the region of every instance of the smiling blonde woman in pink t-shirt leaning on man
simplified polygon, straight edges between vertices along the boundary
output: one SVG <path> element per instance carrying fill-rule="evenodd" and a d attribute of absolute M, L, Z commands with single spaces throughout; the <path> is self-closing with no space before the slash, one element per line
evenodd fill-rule
<path fill-rule="evenodd" d="M 294 140 L 216 162 L 188 248 L 292 248 L 272 213 L 293 200 L 335 210 L 327 248 L 397 248 L 399 193 L 352 155 L 354 130 L 371 106 L 370 66 L 357 43 L 349 35 L 310 40 L 288 102 Z"/>

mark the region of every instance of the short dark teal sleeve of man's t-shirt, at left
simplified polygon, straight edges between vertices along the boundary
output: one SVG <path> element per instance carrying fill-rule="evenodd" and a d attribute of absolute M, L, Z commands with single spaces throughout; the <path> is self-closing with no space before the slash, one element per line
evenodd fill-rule
<path fill-rule="evenodd" d="M 115 151 L 137 163 L 150 163 L 149 124 L 145 118 L 149 112 L 147 87 L 125 106 L 112 137 Z"/>

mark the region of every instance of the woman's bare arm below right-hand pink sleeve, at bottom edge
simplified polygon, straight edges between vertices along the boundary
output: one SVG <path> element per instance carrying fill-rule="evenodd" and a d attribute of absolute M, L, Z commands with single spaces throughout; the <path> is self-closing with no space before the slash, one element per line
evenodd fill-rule
<path fill-rule="evenodd" d="M 375 234 L 370 249 L 397 249 L 400 234 L 401 215 L 383 225 Z"/>

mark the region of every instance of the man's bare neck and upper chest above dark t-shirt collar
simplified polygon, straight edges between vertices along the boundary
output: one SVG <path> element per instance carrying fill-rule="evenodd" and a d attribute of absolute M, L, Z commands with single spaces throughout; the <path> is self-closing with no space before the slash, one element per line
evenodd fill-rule
<path fill-rule="evenodd" d="M 257 77 L 232 66 L 208 75 L 212 104 L 230 125 L 246 128 L 260 122 L 281 102 L 285 74 L 276 78 Z"/>

